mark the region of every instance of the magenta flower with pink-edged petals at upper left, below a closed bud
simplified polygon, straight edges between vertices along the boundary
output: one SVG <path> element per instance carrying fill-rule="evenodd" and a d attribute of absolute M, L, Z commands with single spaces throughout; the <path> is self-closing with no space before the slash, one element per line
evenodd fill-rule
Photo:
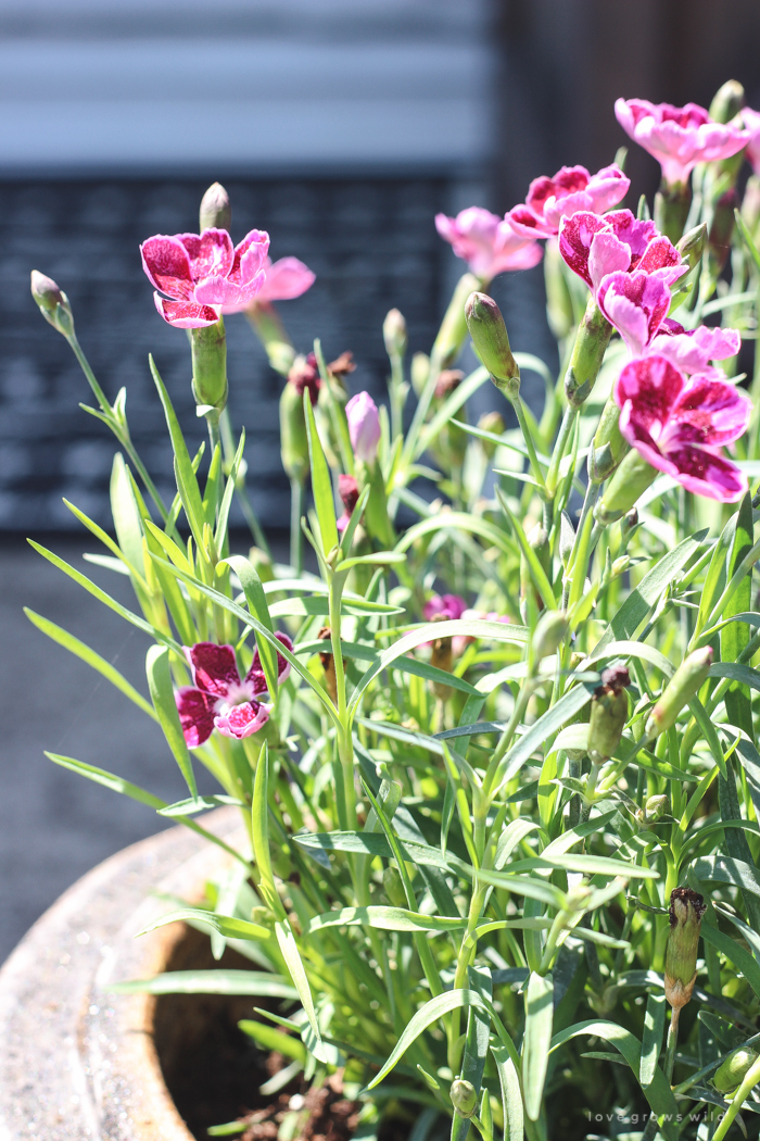
<path fill-rule="evenodd" d="M 142 268 L 156 290 L 158 313 L 177 329 L 214 325 L 222 313 L 245 308 L 264 282 L 269 234 L 252 229 L 239 245 L 226 229 L 157 234 L 140 246 Z"/>

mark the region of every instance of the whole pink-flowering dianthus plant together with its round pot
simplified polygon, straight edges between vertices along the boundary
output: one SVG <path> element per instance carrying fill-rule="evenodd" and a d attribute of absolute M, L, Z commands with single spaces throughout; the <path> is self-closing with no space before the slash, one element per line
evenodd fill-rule
<path fill-rule="evenodd" d="M 180 826 L 57 905 L 71 940 L 71 900 L 89 900 L 83 946 L 113 952 L 82 966 L 72 1057 L 87 1038 L 90 1073 L 72 1093 L 90 1118 L 62 1136 L 722 1141 L 760 1108 L 760 370 L 749 385 L 739 371 L 758 175 L 737 191 L 744 156 L 760 168 L 760 116 L 736 83 L 710 111 L 615 110 L 662 163 L 654 217 L 644 199 L 622 205 L 622 152 L 536 179 L 505 218 L 439 216 L 468 269 L 430 355 L 408 362 L 403 317 L 386 316 L 381 408 L 350 395 L 350 353 L 296 353 L 275 306 L 313 275 L 272 262 L 260 230 L 234 245 L 220 186 L 198 234 L 149 237 L 156 307 L 189 330 L 209 427 L 191 455 L 150 359 L 172 502 L 65 293 L 33 274 L 119 442 L 114 533 L 70 507 L 129 575 L 134 609 L 34 545 L 150 634 L 150 699 L 30 616 L 157 720 L 187 782 L 164 804 L 50 754 Z M 513 353 L 489 296 L 542 257 L 556 379 Z M 227 408 L 236 313 L 284 379 L 288 565 L 255 518 Z M 465 377 L 468 337 L 481 364 Z M 473 424 L 467 404 L 491 382 L 501 410 Z M 235 501 L 247 555 L 230 549 Z M 198 764 L 218 794 L 198 794 Z M 5 1010 L 55 915 L 6 969 Z M 72 1049 L 55 1043 L 59 1071 Z"/>

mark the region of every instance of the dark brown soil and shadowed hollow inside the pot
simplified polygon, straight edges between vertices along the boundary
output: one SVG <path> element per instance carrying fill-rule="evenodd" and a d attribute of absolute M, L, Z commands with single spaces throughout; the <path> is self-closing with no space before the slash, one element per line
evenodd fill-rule
<path fill-rule="evenodd" d="M 215 966 L 250 970 L 251 963 L 229 947 L 216 962 L 209 937 L 187 928 L 165 969 Z M 254 1005 L 268 1003 L 226 995 L 161 995 L 155 1000 L 156 1052 L 166 1087 L 189 1131 L 198 1141 L 209 1141 L 210 1126 L 245 1120 L 245 1132 L 237 1134 L 240 1141 L 275 1141 L 285 1115 L 297 1109 L 299 1141 L 350 1141 L 360 1104 L 343 1097 L 340 1074 L 321 1089 L 310 1090 L 299 1075 L 277 1094 L 260 1093 L 260 1086 L 288 1059 L 264 1054 L 238 1029 L 240 1019 L 256 1017 Z M 403 1141 L 408 1132 L 409 1125 L 384 1130 L 382 1141 Z"/>

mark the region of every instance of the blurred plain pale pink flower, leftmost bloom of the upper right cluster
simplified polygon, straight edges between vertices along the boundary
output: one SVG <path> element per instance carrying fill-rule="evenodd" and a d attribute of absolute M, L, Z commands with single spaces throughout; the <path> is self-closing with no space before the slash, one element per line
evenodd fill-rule
<path fill-rule="evenodd" d="M 530 269 L 544 253 L 536 234 L 518 234 L 508 218 L 499 218 L 481 207 L 460 210 L 456 218 L 436 215 L 435 228 L 484 282 L 506 269 Z"/>

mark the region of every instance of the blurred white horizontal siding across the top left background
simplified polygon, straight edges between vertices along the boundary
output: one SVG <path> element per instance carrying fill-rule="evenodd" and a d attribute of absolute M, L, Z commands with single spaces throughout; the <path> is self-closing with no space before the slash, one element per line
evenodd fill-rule
<path fill-rule="evenodd" d="M 489 0 L 0 0 L 0 175 L 476 169 Z"/>

